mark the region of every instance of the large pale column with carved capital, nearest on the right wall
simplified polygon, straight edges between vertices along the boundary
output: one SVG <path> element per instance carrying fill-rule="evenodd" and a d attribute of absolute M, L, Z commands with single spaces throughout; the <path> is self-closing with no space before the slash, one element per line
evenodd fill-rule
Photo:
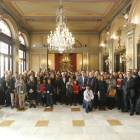
<path fill-rule="evenodd" d="M 136 24 L 131 23 L 124 29 L 127 39 L 126 57 L 128 59 L 126 62 L 126 71 L 128 69 L 135 69 L 135 63 L 137 62 L 135 58 L 135 28 Z"/>

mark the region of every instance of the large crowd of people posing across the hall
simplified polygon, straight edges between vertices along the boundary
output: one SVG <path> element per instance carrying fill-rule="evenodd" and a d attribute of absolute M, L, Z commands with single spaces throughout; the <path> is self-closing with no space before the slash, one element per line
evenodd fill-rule
<path fill-rule="evenodd" d="M 29 108 L 50 106 L 57 102 L 61 105 L 83 105 L 86 113 L 93 108 L 113 109 L 128 112 L 132 116 L 140 112 L 140 71 L 128 70 L 121 72 L 100 72 L 99 70 L 76 72 L 47 71 L 40 68 L 12 75 L 5 71 L 0 78 L 0 104 L 23 110 L 24 103 L 29 102 Z"/>

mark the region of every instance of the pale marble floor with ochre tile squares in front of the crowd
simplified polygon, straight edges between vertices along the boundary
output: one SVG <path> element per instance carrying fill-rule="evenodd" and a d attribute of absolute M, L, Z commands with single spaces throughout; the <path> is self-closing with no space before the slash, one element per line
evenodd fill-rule
<path fill-rule="evenodd" d="M 24 111 L 0 108 L 0 139 L 4 140 L 140 140 L 140 116 L 117 109 L 87 114 L 79 105 Z"/>

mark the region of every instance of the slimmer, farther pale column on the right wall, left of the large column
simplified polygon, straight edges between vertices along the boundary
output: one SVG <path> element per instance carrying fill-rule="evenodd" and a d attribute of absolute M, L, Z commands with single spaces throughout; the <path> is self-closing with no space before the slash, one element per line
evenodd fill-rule
<path fill-rule="evenodd" d="M 113 70 L 114 71 L 114 48 L 113 48 L 113 41 L 114 39 L 109 39 L 108 40 L 108 45 L 109 45 L 109 71 Z"/>

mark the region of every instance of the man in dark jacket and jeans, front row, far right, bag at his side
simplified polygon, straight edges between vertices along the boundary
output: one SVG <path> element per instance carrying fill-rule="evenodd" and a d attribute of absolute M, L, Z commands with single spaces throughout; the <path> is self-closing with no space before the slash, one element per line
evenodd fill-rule
<path fill-rule="evenodd" d="M 122 89 L 124 96 L 124 112 L 128 112 L 128 100 L 130 102 L 131 112 L 130 115 L 134 114 L 134 97 L 131 97 L 130 94 L 135 90 L 135 79 L 132 77 L 131 71 L 127 71 L 127 77 L 122 81 Z"/>

